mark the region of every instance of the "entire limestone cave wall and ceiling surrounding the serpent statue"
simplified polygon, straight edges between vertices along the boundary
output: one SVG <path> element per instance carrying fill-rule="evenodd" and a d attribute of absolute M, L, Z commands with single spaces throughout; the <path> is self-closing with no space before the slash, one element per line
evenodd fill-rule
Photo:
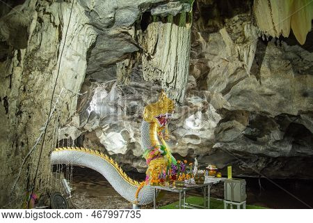
<path fill-rule="evenodd" d="M 56 146 L 145 171 L 142 112 L 161 89 L 177 102 L 177 157 L 312 179 L 313 6 L 289 2 L 3 1 L 0 206 L 49 190 Z"/>

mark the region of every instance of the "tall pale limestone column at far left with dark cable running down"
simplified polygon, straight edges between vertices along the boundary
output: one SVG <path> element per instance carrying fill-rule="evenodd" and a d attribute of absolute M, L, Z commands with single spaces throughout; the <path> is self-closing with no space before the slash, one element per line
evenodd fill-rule
<path fill-rule="evenodd" d="M 8 7 L 0 23 L 0 206 L 20 207 L 37 168 L 35 192 L 50 188 L 49 154 L 56 143 L 56 125 L 67 123 L 76 111 L 75 93 L 81 89 L 86 52 L 96 36 L 83 8 L 70 2 L 25 1 Z M 42 147 L 50 105 L 54 113 Z"/>

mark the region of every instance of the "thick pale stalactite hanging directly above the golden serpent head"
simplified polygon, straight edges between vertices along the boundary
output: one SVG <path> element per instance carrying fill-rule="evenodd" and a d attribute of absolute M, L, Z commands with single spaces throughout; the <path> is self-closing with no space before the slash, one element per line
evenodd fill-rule
<path fill-rule="evenodd" d="M 139 43 L 144 49 L 145 80 L 160 80 L 162 88 L 177 102 L 184 100 L 188 80 L 191 16 L 192 13 L 183 12 L 160 17 L 143 33 L 138 33 Z"/>

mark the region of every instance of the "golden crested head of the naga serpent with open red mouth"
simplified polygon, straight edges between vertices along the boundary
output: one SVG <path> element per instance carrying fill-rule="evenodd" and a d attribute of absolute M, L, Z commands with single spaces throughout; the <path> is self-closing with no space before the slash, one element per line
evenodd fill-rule
<path fill-rule="evenodd" d="M 161 91 L 159 100 L 147 105 L 143 110 L 143 119 L 147 123 L 158 123 L 160 127 L 166 126 L 168 118 L 174 112 L 174 102 L 168 98 L 164 91 Z"/>

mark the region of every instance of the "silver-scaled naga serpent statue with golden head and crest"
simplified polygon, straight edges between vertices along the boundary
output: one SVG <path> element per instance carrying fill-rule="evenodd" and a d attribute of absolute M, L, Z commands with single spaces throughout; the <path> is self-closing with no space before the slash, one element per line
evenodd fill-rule
<path fill-rule="evenodd" d="M 51 153 L 51 164 L 72 164 L 94 169 L 102 174 L 127 201 L 137 205 L 151 203 L 154 189 L 150 183 L 154 183 L 157 176 L 165 171 L 169 164 L 176 163 L 164 140 L 168 138 L 168 119 L 172 112 L 174 112 L 174 102 L 163 91 L 157 102 L 147 105 L 144 109 L 141 146 L 148 168 L 146 179 L 142 183 L 129 178 L 118 163 L 108 155 L 88 148 L 56 148 Z"/>

